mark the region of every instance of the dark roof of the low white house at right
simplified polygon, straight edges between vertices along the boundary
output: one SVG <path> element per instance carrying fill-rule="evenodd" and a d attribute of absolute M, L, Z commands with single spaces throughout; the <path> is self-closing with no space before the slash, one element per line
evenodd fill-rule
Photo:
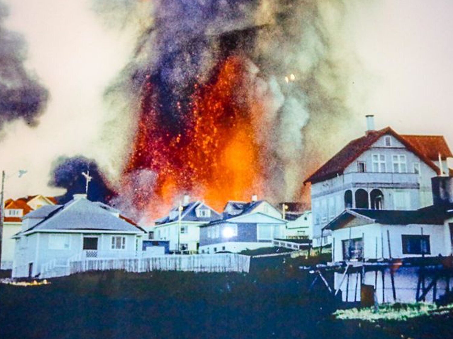
<path fill-rule="evenodd" d="M 439 213 L 438 209 L 424 209 L 415 211 L 396 210 L 370 210 L 352 208 L 343 211 L 339 216 L 330 221 L 324 229 L 337 230 L 354 218 L 361 218 L 369 224 L 382 225 L 443 225 L 445 213 Z"/>

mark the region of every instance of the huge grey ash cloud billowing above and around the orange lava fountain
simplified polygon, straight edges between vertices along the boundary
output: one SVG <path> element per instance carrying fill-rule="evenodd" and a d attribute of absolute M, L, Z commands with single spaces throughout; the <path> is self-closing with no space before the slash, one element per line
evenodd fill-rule
<path fill-rule="evenodd" d="M 106 96 L 125 96 L 137 107 L 142 89 L 152 84 L 159 123 L 170 134 L 190 128 L 187 107 L 194 85 L 209 84 L 222 61 L 241 56 L 248 79 L 232 100 L 244 103 L 254 124 L 266 198 L 299 199 L 303 180 L 335 149 L 332 141 L 355 124 L 347 95 L 358 66 L 341 35 L 347 2 L 114 3 L 94 1 L 100 14 L 116 18 L 121 27 L 136 18 L 141 34 L 133 60 Z M 137 6 L 146 7 L 138 14 Z M 144 120 L 140 112 L 130 114 Z"/>

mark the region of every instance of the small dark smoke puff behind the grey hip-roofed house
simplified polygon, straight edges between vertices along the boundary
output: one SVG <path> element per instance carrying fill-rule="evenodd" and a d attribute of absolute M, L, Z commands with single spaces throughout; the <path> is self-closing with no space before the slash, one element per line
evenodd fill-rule
<path fill-rule="evenodd" d="M 88 186 L 88 199 L 108 203 L 116 196 L 116 193 L 109 188 L 96 162 L 83 156 L 60 157 L 52 166 L 50 186 L 66 188 L 67 192 L 56 197 L 58 203 L 66 203 L 72 199 L 73 194 L 85 193 L 85 177 L 82 172 L 90 171 L 93 178 Z"/>

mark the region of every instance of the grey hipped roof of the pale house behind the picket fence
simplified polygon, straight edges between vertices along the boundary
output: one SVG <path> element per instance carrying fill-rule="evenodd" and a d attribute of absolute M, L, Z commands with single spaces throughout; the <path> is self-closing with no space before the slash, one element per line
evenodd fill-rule
<path fill-rule="evenodd" d="M 142 228 L 112 215 L 111 212 L 85 198 L 77 198 L 65 205 L 55 205 L 55 209 L 37 209 L 31 217 L 43 216 L 43 220 L 25 232 L 43 230 L 103 230 L 145 232 Z M 39 214 L 40 213 L 40 214 Z"/>

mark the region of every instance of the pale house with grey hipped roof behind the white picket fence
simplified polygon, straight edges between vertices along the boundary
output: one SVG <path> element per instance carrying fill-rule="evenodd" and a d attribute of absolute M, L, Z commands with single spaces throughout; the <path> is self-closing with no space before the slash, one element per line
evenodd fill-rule
<path fill-rule="evenodd" d="M 84 194 L 43 206 L 23 218 L 14 235 L 13 278 L 67 274 L 71 260 L 136 258 L 145 231 L 120 212 Z"/>

